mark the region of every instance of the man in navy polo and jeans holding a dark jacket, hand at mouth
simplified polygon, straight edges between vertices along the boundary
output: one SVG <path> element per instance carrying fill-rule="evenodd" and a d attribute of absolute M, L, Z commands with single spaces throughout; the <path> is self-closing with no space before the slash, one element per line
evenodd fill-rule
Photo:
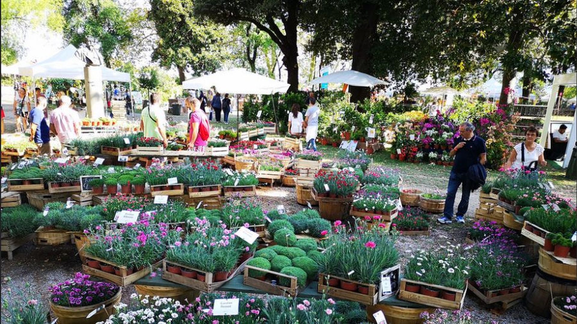
<path fill-rule="evenodd" d="M 437 218 L 441 224 L 449 224 L 452 222 L 453 210 L 455 204 L 455 195 L 459 186 L 463 184 L 461 201 L 457 208 L 456 220 L 458 223 L 464 223 L 464 215 L 469 208 L 469 196 L 471 195 L 471 188 L 467 183 L 467 171 L 471 165 L 481 163 L 485 165 L 487 159 L 487 148 L 485 140 L 473 133 L 475 126 L 469 122 L 464 122 L 459 126 L 460 136 L 455 140 L 455 148 L 449 152 L 449 156 L 454 156 L 455 161 L 449 176 L 449 184 L 447 186 L 447 198 L 445 199 L 445 210 L 443 217 Z"/>

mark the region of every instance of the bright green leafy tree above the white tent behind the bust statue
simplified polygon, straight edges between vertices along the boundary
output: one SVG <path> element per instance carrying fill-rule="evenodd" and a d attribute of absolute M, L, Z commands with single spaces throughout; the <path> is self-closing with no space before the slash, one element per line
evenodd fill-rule
<path fill-rule="evenodd" d="M 62 10 L 65 18 L 64 39 L 78 47 L 93 37 L 101 44 L 101 54 L 107 67 L 120 50 L 132 43 L 128 23 L 130 10 L 112 0 L 69 0 Z"/>

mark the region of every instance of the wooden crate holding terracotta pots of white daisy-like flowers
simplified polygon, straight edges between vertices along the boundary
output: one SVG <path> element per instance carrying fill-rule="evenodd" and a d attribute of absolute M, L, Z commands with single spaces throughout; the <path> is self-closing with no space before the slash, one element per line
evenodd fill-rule
<path fill-rule="evenodd" d="M 431 297 L 431 296 L 422 295 L 420 293 L 407 291 L 406 290 L 407 282 L 412 283 L 412 284 L 424 285 L 426 287 L 431 287 L 431 288 L 435 288 L 435 289 L 441 289 L 444 291 L 454 292 L 454 293 L 456 293 L 455 301 L 452 302 L 451 300 L 446 300 L 446 299 L 443 299 L 440 297 Z M 426 282 L 414 281 L 414 280 L 409 280 L 409 279 L 405 279 L 405 278 L 402 278 L 400 280 L 399 299 L 407 300 L 409 302 L 414 302 L 414 303 L 418 303 L 418 304 L 424 304 L 427 306 L 437 307 L 437 308 L 447 308 L 449 310 L 460 310 L 463 307 L 463 302 L 465 300 L 466 293 L 467 293 L 467 284 L 466 283 L 465 283 L 465 289 L 459 290 L 459 289 L 455 289 L 455 288 L 444 287 L 444 286 L 440 286 L 440 285 L 433 285 L 433 284 L 428 284 Z"/>

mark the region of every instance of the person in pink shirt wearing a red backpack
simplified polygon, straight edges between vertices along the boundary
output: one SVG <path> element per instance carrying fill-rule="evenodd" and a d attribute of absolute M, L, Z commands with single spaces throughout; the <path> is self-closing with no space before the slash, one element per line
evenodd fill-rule
<path fill-rule="evenodd" d="M 186 98 L 185 106 L 192 111 L 189 120 L 188 147 L 197 152 L 204 152 L 208 144 L 208 138 L 211 135 L 211 126 L 208 122 L 207 114 L 201 110 L 200 100 L 194 97 Z"/>

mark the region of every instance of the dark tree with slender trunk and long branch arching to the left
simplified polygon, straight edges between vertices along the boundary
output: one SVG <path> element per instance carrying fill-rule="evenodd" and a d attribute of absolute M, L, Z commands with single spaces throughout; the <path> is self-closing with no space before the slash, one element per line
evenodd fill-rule
<path fill-rule="evenodd" d="M 194 11 L 200 17 L 231 25 L 239 21 L 252 22 L 267 33 L 283 52 L 287 70 L 288 91 L 298 90 L 297 27 L 302 1 L 221 1 L 197 0 Z"/>

